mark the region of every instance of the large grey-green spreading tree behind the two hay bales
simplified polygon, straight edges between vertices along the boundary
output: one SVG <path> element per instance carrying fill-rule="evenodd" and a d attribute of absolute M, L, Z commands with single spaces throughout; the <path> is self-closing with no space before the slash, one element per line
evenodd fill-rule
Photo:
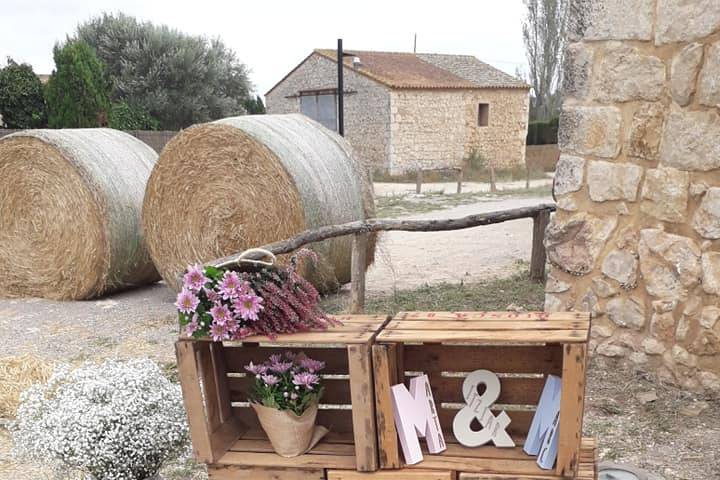
<path fill-rule="evenodd" d="M 245 113 L 248 70 L 220 40 L 123 14 L 94 18 L 78 27 L 77 37 L 105 62 L 112 100 L 141 106 L 162 129 Z"/>

